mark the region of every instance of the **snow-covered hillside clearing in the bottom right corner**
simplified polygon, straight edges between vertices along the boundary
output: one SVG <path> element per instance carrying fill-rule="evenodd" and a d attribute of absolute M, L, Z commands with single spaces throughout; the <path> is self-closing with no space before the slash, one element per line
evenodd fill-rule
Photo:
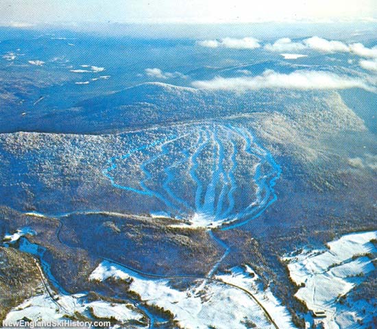
<path fill-rule="evenodd" d="M 361 308 L 349 308 L 338 298 L 347 295 L 375 267 L 369 255 L 377 249 L 370 241 L 377 239 L 377 231 L 352 233 L 331 241 L 326 249 L 308 251 L 284 257 L 291 279 L 302 285 L 295 296 L 311 310 L 324 310 L 328 328 L 354 328 L 354 319 Z M 367 303 L 366 303 L 367 304 Z M 367 304 L 368 305 L 368 304 Z M 364 304 L 363 308 L 368 308 Z M 357 328 L 361 328 L 358 326 Z"/>

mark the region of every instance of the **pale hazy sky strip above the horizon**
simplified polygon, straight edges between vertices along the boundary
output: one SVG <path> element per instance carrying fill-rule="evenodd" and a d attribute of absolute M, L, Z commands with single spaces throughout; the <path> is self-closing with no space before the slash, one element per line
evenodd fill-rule
<path fill-rule="evenodd" d="M 0 0 L 2 25 L 377 19 L 376 0 Z"/>

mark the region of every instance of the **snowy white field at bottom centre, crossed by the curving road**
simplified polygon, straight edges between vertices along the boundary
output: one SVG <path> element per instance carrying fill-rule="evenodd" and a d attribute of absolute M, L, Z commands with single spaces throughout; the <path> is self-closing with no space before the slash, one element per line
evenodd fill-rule
<path fill-rule="evenodd" d="M 196 280 L 195 283 L 199 287 L 202 282 L 206 282 L 202 284 L 203 289 L 190 287 L 180 291 L 173 289 L 167 279 L 145 278 L 130 269 L 106 260 L 91 273 L 90 280 L 103 281 L 107 278 L 130 282 L 130 291 L 140 295 L 147 304 L 170 310 L 183 328 L 208 329 L 214 326 L 217 329 L 245 329 L 248 328 L 248 321 L 256 324 L 257 328 L 273 328 L 272 324 L 267 321 L 262 308 L 250 295 L 242 289 L 223 284 L 218 280 Z M 249 279 L 252 281 L 248 282 L 250 278 L 248 273 L 233 272 L 232 275 L 221 276 L 224 282 L 232 282 L 234 278 L 237 283 L 245 284 L 244 289 L 252 287 L 254 284 L 252 282 L 255 280 Z M 244 282 L 241 282 L 241 278 Z M 252 288 L 256 289 L 256 286 Z M 276 312 L 278 321 L 284 323 L 283 328 L 294 328 L 287 318 L 288 313 L 282 310 L 282 306 L 270 291 L 260 297 L 265 297 L 269 304 L 267 307 L 271 309 L 271 312 Z"/>

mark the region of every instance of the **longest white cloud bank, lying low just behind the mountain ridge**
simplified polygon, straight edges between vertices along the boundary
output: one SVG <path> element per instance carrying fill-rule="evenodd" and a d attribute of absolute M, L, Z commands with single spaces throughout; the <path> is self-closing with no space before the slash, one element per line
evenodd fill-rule
<path fill-rule="evenodd" d="M 365 81 L 348 76 L 341 76 L 326 71 L 294 71 L 289 74 L 265 71 L 255 77 L 215 77 L 213 80 L 195 81 L 193 86 L 210 90 L 258 90 L 295 89 L 295 90 L 326 90 L 363 88 L 376 92 L 376 88 Z"/>

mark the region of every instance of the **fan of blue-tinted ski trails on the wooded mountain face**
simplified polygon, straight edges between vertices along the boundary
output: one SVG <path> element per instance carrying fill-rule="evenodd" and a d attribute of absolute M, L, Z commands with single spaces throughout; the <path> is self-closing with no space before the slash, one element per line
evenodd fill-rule
<path fill-rule="evenodd" d="M 228 221 L 234 222 L 233 225 L 229 223 L 230 227 L 234 227 L 239 224 L 235 223 L 236 221 L 246 223 L 258 217 L 276 201 L 273 186 L 280 177 L 280 166 L 276 164 L 269 151 L 258 145 L 252 132 L 244 127 L 217 123 L 193 126 L 186 132 L 189 133 L 182 136 L 170 134 L 154 143 L 141 145 L 121 158 L 110 158 L 108 167 L 103 171 L 104 175 L 112 186 L 155 197 L 180 215 L 191 216 L 194 212 L 195 216 L 199 215 L 197 223 L 200 226 L 208 226 L 211 223 L 212 227 L 214 224 L 220 226 Z M 191 139 L 193 135 L 197 138 L 195 142 Z M 173 149 L 169 147 L 171 143 L 186 137 L 189 139 L 184 140 L 182 145 L 180 143 L 181 149 L 177 148 L 178 145 Z M 136 151 L 145 151 L 152 147 L 157 149 L 150 152 L 151 156 L 139 164 L 143 179 L 133 182 L 132 186 L 136 184 L 134 187 L 123 186 L 115 181 L 111 171 L 120 165 L 119 160 L 127 160 Z M 173 150 L 177 154 L 173 154 Z M 236 207 L 240 154 L 245 156 L 240 172 L 245 171 L 243 179 L 250 180 L 252 184 L 250 193 L 244 195 L 247 199 L 242 209 L 239 209 L 241 206 Z M 205 168 L 200 167 L 203 161 Z M 180 184 L 181 181 L 177 179 L 178 166 L 181 170 L 185 162 L 188 162 L 188 166 L 183 178 L 191 178 L 193 184 Z M 249 166 L 251 171 L 245 165 Z M 182 196 L 186 193 L 191 193 L 192 198 Z"/>

